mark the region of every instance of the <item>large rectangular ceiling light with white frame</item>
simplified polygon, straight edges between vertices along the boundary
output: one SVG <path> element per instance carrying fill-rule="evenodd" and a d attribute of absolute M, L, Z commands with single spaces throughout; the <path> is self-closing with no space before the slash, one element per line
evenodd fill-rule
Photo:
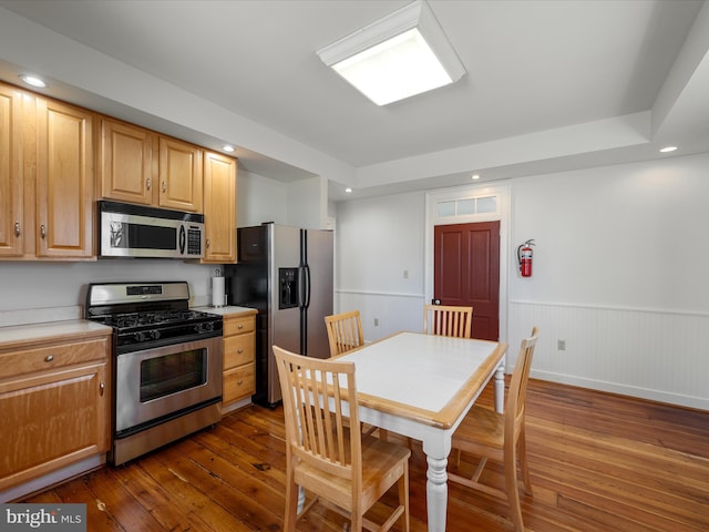
<path fill-rule="evenodd" d="M 319 50 L 318 55 L 377 105 L 453 83 L 465 73 L 422 0 Z"/>

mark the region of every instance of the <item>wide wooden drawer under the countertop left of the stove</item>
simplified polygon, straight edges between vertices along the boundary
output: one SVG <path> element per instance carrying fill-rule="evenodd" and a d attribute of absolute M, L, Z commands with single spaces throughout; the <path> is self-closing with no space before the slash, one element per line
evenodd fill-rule
<path fill-rule="evenodd" d="M 107 352 L 109 338 L 0 352 L 0 378 L 102 360 Z"/>

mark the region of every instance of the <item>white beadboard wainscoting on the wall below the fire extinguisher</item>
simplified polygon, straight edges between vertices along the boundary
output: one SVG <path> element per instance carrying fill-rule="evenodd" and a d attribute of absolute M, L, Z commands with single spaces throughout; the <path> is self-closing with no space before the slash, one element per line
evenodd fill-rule
<path fill-rule="evenodd" d="M 533 325 L 533 378 L 709 410 L 708 315 L 511 301 L 507 368 Z"/>

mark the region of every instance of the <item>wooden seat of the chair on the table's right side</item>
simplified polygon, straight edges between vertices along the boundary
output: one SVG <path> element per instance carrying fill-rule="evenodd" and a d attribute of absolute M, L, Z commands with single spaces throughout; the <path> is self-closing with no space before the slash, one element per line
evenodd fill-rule
<path fill-rule="evenodd" d="M 504 448 L 504 415 L 473 405 L 453 433 L 452 447 L 472 454 L 489 454 Z M 479 451 L 479 452 L 476 452 Z"/>

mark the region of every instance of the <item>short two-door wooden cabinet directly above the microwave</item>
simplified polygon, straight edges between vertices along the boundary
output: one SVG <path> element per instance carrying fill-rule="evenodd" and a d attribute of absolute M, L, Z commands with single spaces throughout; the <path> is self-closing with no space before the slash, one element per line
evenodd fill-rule
<path fill-rule="evenodd" d="M 202 213 L 202 157 L 197 146 L 103 117 L 101 197 Z"/>

